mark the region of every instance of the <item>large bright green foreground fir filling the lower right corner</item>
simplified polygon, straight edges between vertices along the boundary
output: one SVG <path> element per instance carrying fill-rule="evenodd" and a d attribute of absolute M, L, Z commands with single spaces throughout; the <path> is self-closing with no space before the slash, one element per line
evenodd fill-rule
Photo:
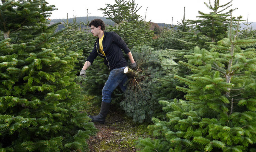
<path fill-rule="evenodd" d="M 158 140 L 140 140 L 141 151 L 255 151 L 255 39 L 238 40 L 239 22 L 230 10 L 227 38 L 210 50 L 194 48 L 179 63 L 191 69 L 175 78 L 188 88 L 187 101 L 159 101 L 167 121 L 152 119 Z M 241 17 L 238 17 L 240 20 Z"/>

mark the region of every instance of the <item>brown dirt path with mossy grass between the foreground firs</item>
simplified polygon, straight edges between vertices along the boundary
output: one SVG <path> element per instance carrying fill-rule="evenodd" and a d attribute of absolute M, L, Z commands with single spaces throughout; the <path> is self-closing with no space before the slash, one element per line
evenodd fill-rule
<path fill-rule="evenodd" d="M 111 110 L 105 124 L 94 123 L 94 126 L 99 132 L 87 140 L 90 152 L 135 152 L 139 137 L 151 136 L 148 124 L 135 124 L 123 113 Z"/>

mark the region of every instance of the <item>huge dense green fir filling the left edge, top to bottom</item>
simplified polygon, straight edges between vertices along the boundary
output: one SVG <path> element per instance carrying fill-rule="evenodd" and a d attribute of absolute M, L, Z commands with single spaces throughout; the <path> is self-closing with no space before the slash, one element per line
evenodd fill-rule
<path fill-rule="evenodd" d="M 96 132 L 72 71 L 80 54 L 57 43 L 55 6 L 44 0 L 0 3 L 1 151 L 83 151 Z"/>

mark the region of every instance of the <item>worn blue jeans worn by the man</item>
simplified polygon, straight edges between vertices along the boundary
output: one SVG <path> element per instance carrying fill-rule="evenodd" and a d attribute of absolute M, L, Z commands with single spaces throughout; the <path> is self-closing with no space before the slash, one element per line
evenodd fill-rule
<path fill-rule="evenodd" d="M 110 71 L 108 80 L 106 81 L 102 89 L 102 101 L 106 103 L 111 102 L 111 94 L 117 86 L 121 88 L 123 92 L 126 90 L 124 86 L 125 82 L 128 80 L 125 73 L 123 73 L 125 67 L 119 67 Z"/>

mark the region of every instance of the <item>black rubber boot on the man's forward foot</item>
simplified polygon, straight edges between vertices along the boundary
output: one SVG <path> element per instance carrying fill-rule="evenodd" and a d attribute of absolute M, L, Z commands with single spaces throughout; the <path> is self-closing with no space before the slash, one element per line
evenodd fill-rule
<path fill-rule="evenodd" d="M 104 124 L 105 118 L 109 111 L 109 107 L 110 107 L 110 103 L 106 103 L 106 102 L 102 101 L 100 113 L 97 116 L 89 115 L 89 117 L 92 119 L 93 122 L 98 122 L 98 123 Z"/>

